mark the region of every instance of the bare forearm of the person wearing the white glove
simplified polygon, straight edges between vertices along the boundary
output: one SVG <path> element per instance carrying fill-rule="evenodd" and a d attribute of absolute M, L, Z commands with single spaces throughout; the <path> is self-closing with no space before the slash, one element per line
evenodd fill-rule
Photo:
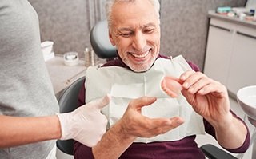
<path fill-rule="evenodd" d="M 0 116 L 0 149 L 38 141 L 58 139 L 61 127 L 57 116 Z"/>

